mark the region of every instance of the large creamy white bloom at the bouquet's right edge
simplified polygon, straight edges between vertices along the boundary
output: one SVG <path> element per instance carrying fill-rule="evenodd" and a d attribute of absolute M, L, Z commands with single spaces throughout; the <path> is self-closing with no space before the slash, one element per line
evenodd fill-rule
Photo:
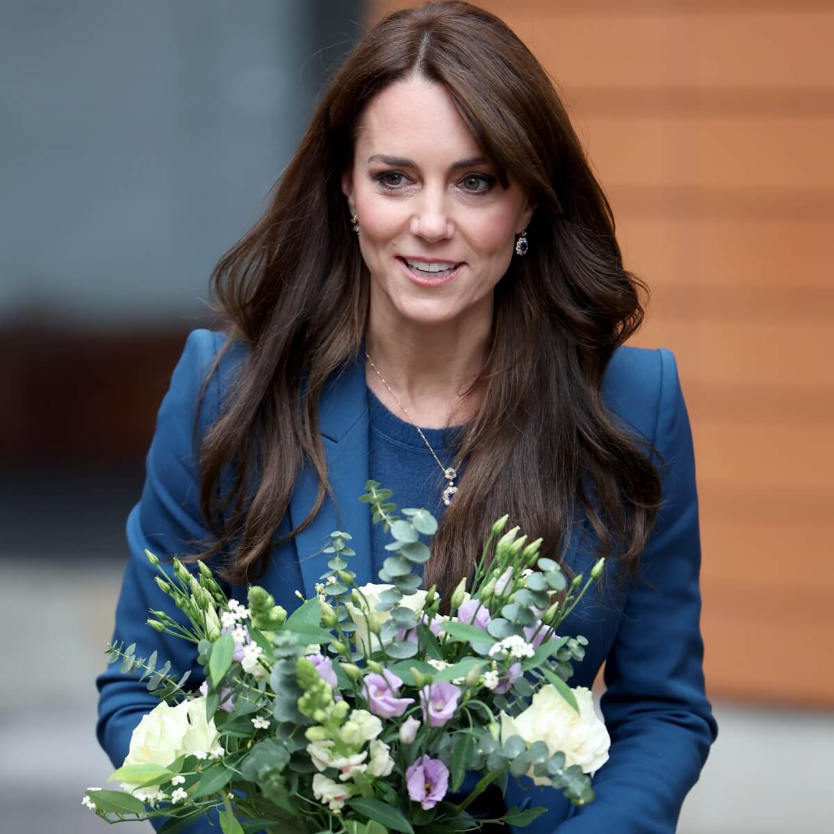
<path fill-rule="evenodd" d="M 579 706 L 577 713 L 554 686 L 543 686 L 533 696 L 533 702 L 515 718 L 501 713 L 501 743 L 510 736 L 521 736 L 528 745 L 544 741 L 552 756 L 565 754 L 565 765 L 579 765 L 583 773 L 593 773 L 608 761 L 611 740 L 605 723 L 594 711 L 590 689 L 577 686 L 572 690 Z M 533 776 L 536 785 L 549 785 L 546 776 Z"/>

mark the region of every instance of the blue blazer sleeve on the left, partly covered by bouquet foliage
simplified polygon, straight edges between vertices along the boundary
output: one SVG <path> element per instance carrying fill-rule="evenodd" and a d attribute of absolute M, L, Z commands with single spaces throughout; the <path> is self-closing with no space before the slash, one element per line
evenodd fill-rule
<path fill-rule="evenodd" d="M 193 644 L 159 634 L 148 625 L 148 609 L 165 610 L 183 621 L 182 613 L 153 581 L 157 575 L 144 554 L 147 548 L 170 574 L 170 557 L 193 552 L 195 540 L 208 537 L 199 508 L 198 467 L 193 455 L 193 425 L 198 394 L 215 357 L 214 334 L 195 330 L 188 336 L 182 357 L 159 408 L 153 441 L 146 459 L 146 479 L 141 500 L 128 516 L 128 564 L 116 607 L 113 641 L 136 644 L 136 656 L 157 651 L 158 664 L 171 662 L 172 674 L 191 671 L 188 688 L 203 680 Z M 199 425 L 201 430 L 219 410 L 217 374 L 209 382 Z M 135 675 L 121 675 L 118 663 L 108 666 L 96 680 L 98 686 L 98 741 L 113 766 L 121 766 L 128 754 L 130 736 L 142 716 L 158 704 L 145 682 Z M 153 820 L 159 826 L 163 820 Z M 203 827 L 200 827 L 200 826 Z M 216 831 L 203 820 L 189 832 Z"/>

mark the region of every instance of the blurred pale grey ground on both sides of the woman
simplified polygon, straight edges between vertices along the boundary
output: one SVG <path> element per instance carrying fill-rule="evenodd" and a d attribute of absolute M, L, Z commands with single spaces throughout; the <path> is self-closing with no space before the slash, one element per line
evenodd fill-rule
<path fill-rule="evenodd" d="M 4 834 L 104 831 L 81 805 L 111 772 L 93 735 L 93 678 L 113 621 L 120 570 L 4 560 L 0 796 Z M 25 628 L 24 628 L 25 625 Z M 716 705 L 721 737 L 684 806 L 681 834 L 834 830 L 834 716 Z M 151 831 L 126 823 L 119 831 Z M 600 832 L 601 834 L 601 832 Z"/>

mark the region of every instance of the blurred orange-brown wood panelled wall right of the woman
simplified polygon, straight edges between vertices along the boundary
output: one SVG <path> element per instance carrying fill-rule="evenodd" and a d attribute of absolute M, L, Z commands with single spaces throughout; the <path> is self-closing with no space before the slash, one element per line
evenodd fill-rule
<path fill-rule="evenodd" d="M 610 197 L 652 291 L 635 344 L 678 359 L 711 696 L 834 706 L 834 5 L 480 5 L 555 78 Z"/>

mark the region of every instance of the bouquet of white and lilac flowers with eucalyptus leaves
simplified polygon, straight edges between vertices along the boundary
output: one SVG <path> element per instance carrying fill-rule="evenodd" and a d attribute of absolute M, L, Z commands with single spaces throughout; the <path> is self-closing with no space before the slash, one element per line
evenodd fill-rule
<path fill-rule="evenodd" d="M 473 802 L 490 785 L 530 776 L 571 802 L 594 798 L 590 776 L 610 740 L 588 689 L 571 689 L 582 636 L 558 636 L 588 585 L 568 582 L 507 517 L 492 526 L 470 583 L 444 608 L 420 588 L 437 529 L 426 510 L 394 515 L 376 481 L 360 498 L 393 540 L 381 585 L 357 587 L 350 535 L 331 534 L 329 570 L 291 615 L 258 586 L 227 599 L 204 563 L 178 560 L 156 581 L 187 624 L 151 611 L 148 625 L 193 641 L 205 682 L 157 668 L 156 652 L 108 647 L 110 662 L 148 678 L 160 702 L 133 731 L 111 776 L 123 791 L 88 788 L 83 803 L 109 822 L 168 817 L 164 834 L 209 811 L 224 834 L 445 834 L 490 823 L 525 826 L 545 811 Z M 469 585 L 469 590 L 467 590 Z M 441 610 L 447 613 L 441 613 Z"/>

